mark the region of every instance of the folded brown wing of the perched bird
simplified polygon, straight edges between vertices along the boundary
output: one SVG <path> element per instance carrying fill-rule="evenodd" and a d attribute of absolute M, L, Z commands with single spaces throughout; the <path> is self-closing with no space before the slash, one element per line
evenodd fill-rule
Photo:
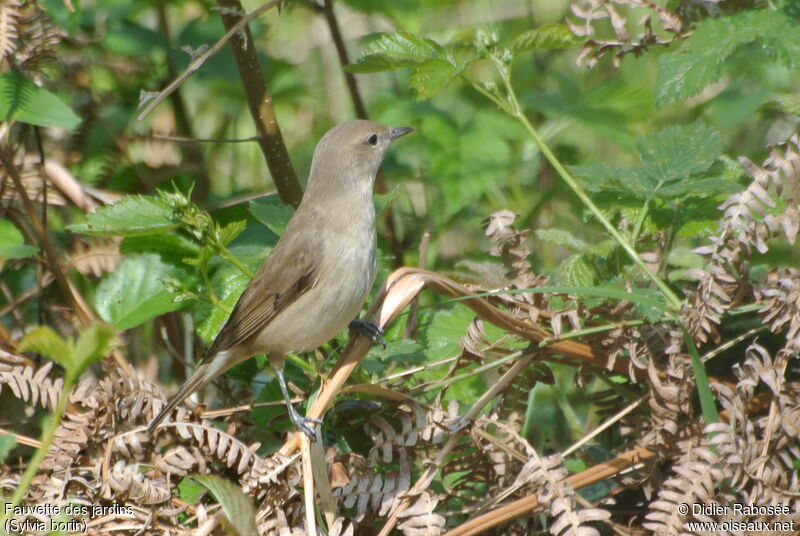
<path fill-rule="evenodd" d="M 300 230 L 278 241 L 242 292 L 204 361 L 258 335 L 277 314 L 314 287 L 323 254 L 320 235 Z"/>

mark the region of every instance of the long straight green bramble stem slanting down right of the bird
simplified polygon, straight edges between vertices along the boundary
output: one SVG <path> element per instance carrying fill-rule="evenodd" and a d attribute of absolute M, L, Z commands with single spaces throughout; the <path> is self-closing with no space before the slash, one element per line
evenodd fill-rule
<path fill-rule="evenodd" d="M 547 146 L 547 143 L 542 139 L 536 129 L 533 127 L 531 122 L 522 112 L 522 107 L 519 104 L 519 100 L 517 99 L 517 94 L 514 92 L 514 87 L 511 84 L 511 67 L 507 63 L 503 62 L 500 58 L 497 58 L 495 55 L 491 56 L 497 71 L 500 73 L 500 77 L 503 80 L 503 85 L 505 88 L 505 96 L 506 99 L 502 100 L 497 95 L 493 95 L 489 92 L 486 88 L 482 87 L 475 81 L 469 80 L 469 83 L 474 87 L 478 92 L 482 95 L 487 97 L 490 101 L 495 103 L 501 110 L 507 112 L 513 118 L 522 124 L 525 130 L 528 131 L 533 141 L 536 142 L 536 145 L 539 147 L 539 150 L 542 154 L 547 158 L 547 161 L 550 162 L 550 165 L 558 172 L 561 178 L 567 183 L 567 186 L 572 189 L 578 199 L 591 211 L 595 218 L 606 228 L 608 233 L 617 241 L 617 243 L 625 250 L 628 254 L 630 259 L 636 264 L 639 269 L 644 272 L 644 274 L 650 278 L 650 280 L 658 287 L 661 293 L 664 295 L 665 298 L 669 301 L 670 305 L 673 309 L 680 309 L 681 300 L 675 295 L 672 290 L 667 286 L 667 284 L 656 275 L 648 266 L 647 264 L 639 257 L 628 241 L 617 231 L 617 229 L 611 225 L 611 222 L 603 216 L 603 213 L 594 204 L 592 199 L 586 194 L 586 192 L 581 188 L 581 186 L 575 181 L 575 178 L 566 170 L 566 168 L 561 164 L 555 154 L 550 150 L 550 147 Z"/>

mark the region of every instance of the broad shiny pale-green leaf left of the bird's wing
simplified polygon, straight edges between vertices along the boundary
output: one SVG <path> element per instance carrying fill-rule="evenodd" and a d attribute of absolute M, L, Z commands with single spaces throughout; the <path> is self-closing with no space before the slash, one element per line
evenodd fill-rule
<path fill-rule="evenodd" d="M 164 287 L 174 268 L 158 255 L 143 254 L 122 261 L 117 270 L 97 286 L 95 308 L 117 329 L 130 329 L 182 307 Z"/>

